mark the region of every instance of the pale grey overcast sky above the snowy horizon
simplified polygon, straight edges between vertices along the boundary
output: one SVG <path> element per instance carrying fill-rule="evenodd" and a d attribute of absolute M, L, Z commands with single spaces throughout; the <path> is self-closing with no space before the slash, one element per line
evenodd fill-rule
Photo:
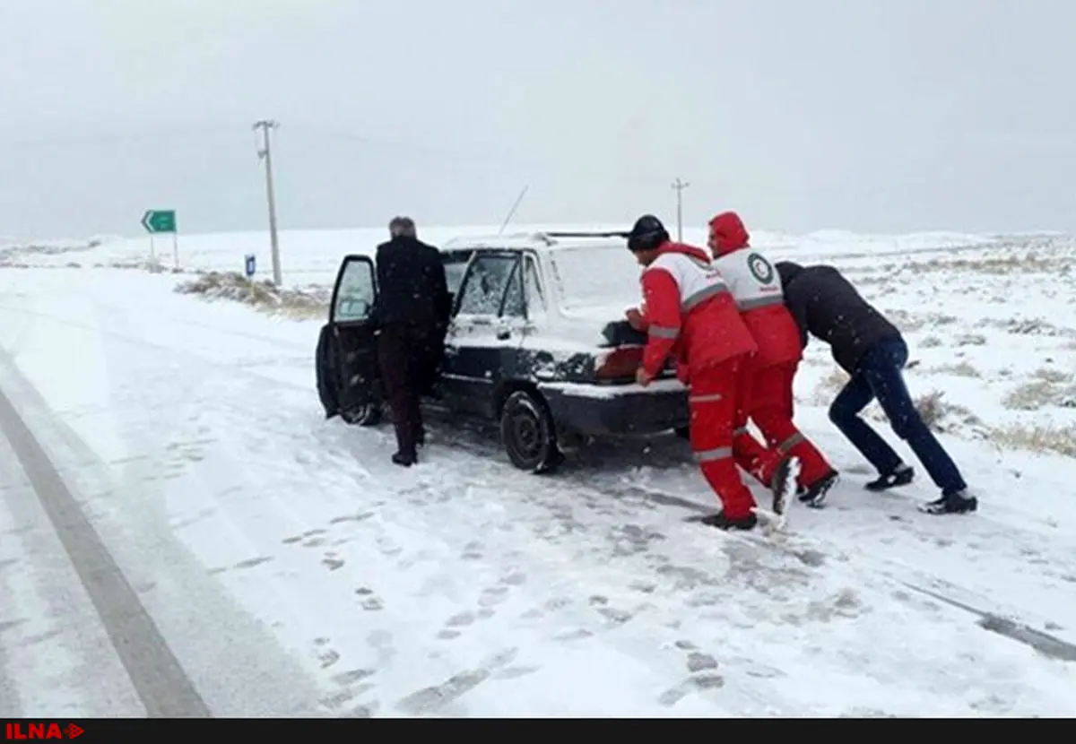
<path fill-rule="evenodd" d="M 0 0 L 0 235 L 1076 231 L 1072 0 Z"/>

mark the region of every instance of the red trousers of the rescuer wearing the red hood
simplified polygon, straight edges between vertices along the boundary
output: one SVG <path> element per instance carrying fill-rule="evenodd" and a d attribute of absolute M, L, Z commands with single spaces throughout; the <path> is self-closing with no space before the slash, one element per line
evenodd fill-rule
<path fill-rule="evenodd" d="M 810 487 L 827 475 L 833 468 L 822 453 L 792 423 L 795 407 L 792 383 L 798 366 L 798 362 L 791 362 L 752 370 L 748 413 L 766 438 L 768 452 L 775 453 L 778 461 L 787 455 L 799 458 L 799 483 Z M 751 442 L 758 444 L 753 438 Z M 739 461 L 737 457 L 737 462 Z M 754 471 L 751 472 L 754 474 Z M 769 475 L 773 476 L 771 470 Z M 759 475 L 755 477 L 763 483 L 769 483 Z"/>

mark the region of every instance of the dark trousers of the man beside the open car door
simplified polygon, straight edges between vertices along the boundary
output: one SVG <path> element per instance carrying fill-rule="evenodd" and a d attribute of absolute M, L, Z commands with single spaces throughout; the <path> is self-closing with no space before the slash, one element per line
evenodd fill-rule
<path fill-rule="evenodd" d="M 425 438 L 419 401 L 435 382 L 439 341 L 435 327 L 420 324 L 387 324 L 378 335 L 381 380 L 393 411 L 397 449 L 404 455 L 414 455 Z"/>

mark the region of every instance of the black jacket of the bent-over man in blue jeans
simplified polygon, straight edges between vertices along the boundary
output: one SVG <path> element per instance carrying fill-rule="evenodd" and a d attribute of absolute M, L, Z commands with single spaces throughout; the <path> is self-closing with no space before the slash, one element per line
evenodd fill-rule
<path fill-rule="evenodd" d="M 833 358 L 854 374 L 864 352 L 879 341 L 900 338 L 901 331 L 886 319 L 855 287 L 832 266 L 802 267 L 780 261 L 777 272 L 784 288 L 784 303 L 799 326 L 799 341 L 807 332 L 830 344 Z"/>

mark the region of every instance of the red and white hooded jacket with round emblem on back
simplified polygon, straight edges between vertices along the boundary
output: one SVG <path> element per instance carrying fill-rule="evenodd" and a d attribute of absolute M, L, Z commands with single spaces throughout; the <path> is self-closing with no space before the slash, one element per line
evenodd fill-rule
<path fill-rule="evenodd" d="M 749 245 L 750 235 L 735 212 L 710 220 L 714 266 L 728 284 L 745 325 L 759 346 L 760 367 L 797 363 L 803 358 L 799 329 L 784 305 L 777 269 Z"/>

